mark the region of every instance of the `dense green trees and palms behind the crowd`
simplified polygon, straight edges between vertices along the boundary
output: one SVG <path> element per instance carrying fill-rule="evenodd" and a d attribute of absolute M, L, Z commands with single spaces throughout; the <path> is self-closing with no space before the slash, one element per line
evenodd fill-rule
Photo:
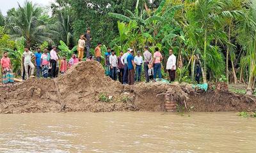
<path fill-rule="evenodd" d="M 219 80 L 225 73 L 228 83 L 243 82 L 248 84 L 248 94 L 253 91 L 256 1 L 56 0 L 51 11 L 50 17 L 45 8 L 26 2 L 9 10 L 6 17 L 0 14 L 0 26 L 9 34 L 4 39 L 16 40 L 16 45 L 10 41 L 10 49 L 19 50 L 17 41 L 31 48 L 47 42 L 59 45 L 61 55 L 70 55 L 90 27 L 92 46 L 102 42 L 117 54 L 129 47 L 142 51 L 148 45 L 151 52 L 159 47 L 166 62 L 173 48 L 179 82 L 193 82 L 198 63 L 204 82 Z"/>

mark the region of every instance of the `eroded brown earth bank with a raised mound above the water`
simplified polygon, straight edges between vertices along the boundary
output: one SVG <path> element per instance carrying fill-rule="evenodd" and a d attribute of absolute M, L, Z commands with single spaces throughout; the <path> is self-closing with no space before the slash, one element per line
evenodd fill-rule
<path fill-rule="evenodd" d="M 171 111 L 238 112 L 256 108 L 255 97 L 228 91 L 195 91 L 189 85 L 122 85 L 98 62 L 80 62 L 55 79 L 31 78 L 0 87 L 0 113 Z M 178 105 L 178 108 L 177 106 Z"/>

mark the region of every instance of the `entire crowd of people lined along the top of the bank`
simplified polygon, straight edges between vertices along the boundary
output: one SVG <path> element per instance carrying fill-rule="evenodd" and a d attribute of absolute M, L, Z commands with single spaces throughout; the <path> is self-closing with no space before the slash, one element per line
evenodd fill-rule
<path fill-rule="evenodd" d="M 94 50 L 94 58 L 90 54 L 91 47 L 91 35 L 90 28 L 86 30 L 86 33 L 80 36 L 77 44 L 76 54 L 72 54 L 72 57 L 67 61 L 66 57 L 60 57 L 58 55 L 58 49 L 52 46 L 49 52 L 48 48 L 44 48 L 44 52 L 41 48 L 36 48 L 36 53 L 34 54 L 29 50 L 28 47 L 24 48 L 24 53 L 22 54 L 22 65 L 23 74 L 22 80 L 34 77 L 34 71 L 36 69 L 36 77 L 40 78 L 56 78 L 59 72 L 63 75 L 68 68 L 76 65 L 78 62 L 83 61 L 84 54 L 86 56 L 86 61 L 102 62 L 102 43 L 98 43 Z M 134 50 L 131 48 L 127 49 L 127 52 L 120 52 L 117 57 L 115 50 L 111 50 L 110 47 L 107 48 L 107 52 L 104 54 L 104 65 L 106 69 L 106 75 L 111 77 L 113 80 L 119 80 L 122 84 L 132 85 L 134 82 L 141 82 L 141 73 L 144 71 L 145 81 L 156 82 L 157 77 L 162 79 L 162 62 L 163 55 L 159 52 L 159 48 L 155 48 L 154 54 L 152 55 L 148 51 L 148 47 L 145 46 L 143 54 L 140 51 L 136 52 L 134 55 Z M 86 52 L 84 53 L 84 50 Z M 175 70 L 176 70 L 176 57 L 173 54 L 173 50 L 169 50 L 168 61 L 166 62 L 166 70 L 168 71 L 170 82 L 175 81 Z M 33 63 L 33 61 L 35 62 Z M 2 70 L 2 82 L 3 84 L 13 83 L 13 73 L 12 64 L 10 58 L 8 57 L 8 52 L 4 52 L 1 59 L 1 70 Z M 197 71 L 197 70 L 196 70 Z M 200 76 L 196 73 L 196 81 L 198 81 Z"/>

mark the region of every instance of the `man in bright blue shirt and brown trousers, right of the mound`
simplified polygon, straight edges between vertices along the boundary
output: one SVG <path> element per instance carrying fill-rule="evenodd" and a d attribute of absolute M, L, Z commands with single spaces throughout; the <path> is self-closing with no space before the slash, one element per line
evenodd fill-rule
<path fill-rule="evenodd" d="M 127 67 L 128 67 L 128 84 L 134 84 L 134 52 L 131 51 L 131 54 L 127 57 Z"/>

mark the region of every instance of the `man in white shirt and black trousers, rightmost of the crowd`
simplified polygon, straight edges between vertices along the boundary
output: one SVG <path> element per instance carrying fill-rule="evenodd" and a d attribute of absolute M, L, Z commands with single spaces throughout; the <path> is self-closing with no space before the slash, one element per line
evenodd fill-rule
<path fill-rule="evenodd" d="M 170 82 L 175 80 L 175 71 L 176 71 L 176 57 L 173 55 L 172 49 L 169 50 L 169 58 L 166 63 L 166 69 L 168 70 Z"/>

